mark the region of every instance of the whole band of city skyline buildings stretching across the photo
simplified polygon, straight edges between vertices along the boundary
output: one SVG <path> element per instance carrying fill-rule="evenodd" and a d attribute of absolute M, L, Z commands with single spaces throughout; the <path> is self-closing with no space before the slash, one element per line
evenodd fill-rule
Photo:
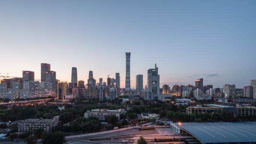
<path fill-rule="evenodd" d="M 89 71 L 87 84 L 77 79 L 77 68 L 71 68 L 71 82 L 56 79 L 56 72 L 51 71 L 51 65 L 41 64 L 41 80 L 34 79 L 33 71 L 22 71 L 22 77 L 1 79 L 0 98 L 36 98 L 56 96 L 62 100 L 75 98 L 94 99 L 100 101 L 113 100 L 119 96 L 138 95 L 145 100 L 158 99 L 170 100 L 172 97 L 192 98 L 197 100 L 210 100 L 215 97 L 245 97 L 256 99 L 256 80 L 250 80 L 250 85 L 236 88 L 234 84 L 224 84 L 223 88 L 213 88 L 213 85 L 204 85 L 203 78 L 196 79 L 195 85 L 162 85 L 160 88 L 160 76 L 158 67 L 147 70 L 146 86 L 143 88 L 143 75 L 136 75 L 136 90 L 131 89 L 130 60 L 131 53 L 125 53 L 126 73 L 125 88 L 120 87 L 120 74 L 115 73 L 111 78 L 107 75 L 107 82 L 100 78 L 98 83 L 94 79 L 93 71 Z M 126 101 L 126 100 L 124 100 Z"/>

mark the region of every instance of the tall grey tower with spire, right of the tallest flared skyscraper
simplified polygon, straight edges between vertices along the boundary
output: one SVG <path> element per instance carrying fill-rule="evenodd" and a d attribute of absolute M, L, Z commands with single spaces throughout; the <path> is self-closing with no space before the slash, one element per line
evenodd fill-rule
<path fill-rule="evenodd" d="M 147 70 L 147 100 L 158 99 L 159 89 L 159 74 L 158 67 Z"/>

